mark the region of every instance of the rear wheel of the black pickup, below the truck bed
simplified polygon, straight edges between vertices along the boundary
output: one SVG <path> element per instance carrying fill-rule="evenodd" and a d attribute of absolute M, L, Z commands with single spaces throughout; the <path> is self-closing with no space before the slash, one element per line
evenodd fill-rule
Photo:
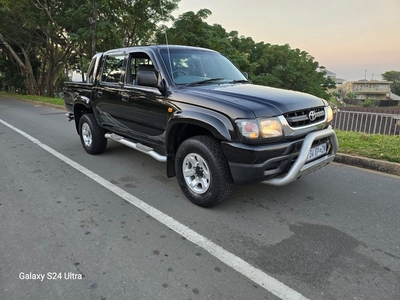
<path fill-rule="evenodd" d="M 97 124 L 93 114 L 84 114 L 79 120 L 79 135 L 85 151 L 99 154 L 107 147 L 106 131 Z"/>

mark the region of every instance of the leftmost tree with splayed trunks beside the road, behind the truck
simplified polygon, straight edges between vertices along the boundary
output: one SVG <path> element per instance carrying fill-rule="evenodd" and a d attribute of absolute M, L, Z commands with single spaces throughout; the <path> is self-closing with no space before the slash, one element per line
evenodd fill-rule
<path fill-rule="evenodd" d="M 67 35 L 75 9 L 85 1 L 2 0 L 0 41 L 26 81 L 29 94 L 54 93 L 76 45 Z M 79 18 L 77 18 L 79 19 Z M 40 65 L 36 62 L 39 61 Z"/>

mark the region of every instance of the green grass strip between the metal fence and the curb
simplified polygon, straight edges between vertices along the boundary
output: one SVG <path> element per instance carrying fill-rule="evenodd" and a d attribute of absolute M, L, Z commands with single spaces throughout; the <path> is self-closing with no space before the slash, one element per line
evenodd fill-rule
<path fill-rule="evenodd" d="M 400 163 L 400 136 L 336 130 L 339 153 Z"/>

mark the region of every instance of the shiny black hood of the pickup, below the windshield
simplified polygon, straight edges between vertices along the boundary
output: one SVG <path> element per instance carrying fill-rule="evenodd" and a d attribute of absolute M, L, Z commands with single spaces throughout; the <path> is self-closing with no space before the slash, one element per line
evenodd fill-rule
<path fill-rule="evenodd" d="M 181 92 L 191 95 L 193 104 L 226 112 L 232 109 L 252 112 L 255 117 L 272 117 L 324 106 L 322 99 L 309 94 L 253 84 L 186 87 Z"/>

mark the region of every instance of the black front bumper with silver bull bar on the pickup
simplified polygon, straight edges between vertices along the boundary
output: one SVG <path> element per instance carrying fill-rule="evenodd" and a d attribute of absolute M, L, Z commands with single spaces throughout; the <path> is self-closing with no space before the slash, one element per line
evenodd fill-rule
<path fill-rule="evenodd" d="M 310 149 L 328 143 L 327 153 L 307 162 Z M 235 184 L 265 182 L 274 186 L 289 184 L 335 159 L 338 141 L 331 128 L 309 133 L 304 139 L 269 146 L 222 143 Z"/>

